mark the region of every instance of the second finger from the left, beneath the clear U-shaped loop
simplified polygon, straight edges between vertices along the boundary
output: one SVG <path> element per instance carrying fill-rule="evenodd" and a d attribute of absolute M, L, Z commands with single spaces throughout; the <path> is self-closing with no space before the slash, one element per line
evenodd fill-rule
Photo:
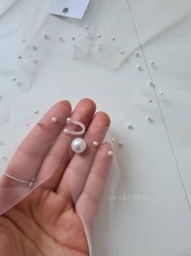
<path fill-rule="evenodd" d="M 72 113 L 72 119 L 76 121 L 81 121 L 85 124 L 86 129 L 89 126 L 89 123 L 92 121 L 93 115 L 96 110 L 96 105 L 91 99 L 82 99 L 76 105 Z M 72 126 L 67 124 L 64 129 L 67 127 L 69 130 L 77 130 L 79 127 Z M 43 180 L 44 177 L 47 177 L 47 173 L 54 170 L 53 175 L 45 183 L 42 184 L 43 188 L 55 189 L 59 184 L 59 180 L 63 175 L 63 170 L 65 170 L 68 161 L 71 159 L 73 152 L 71 148 L 72 139 L 75 136 L 66 135 L 61 132 L 54 142 L 52 148 L 46 155 L 45 160 L 41 166 L 41 172 L 39 173 L 39 179 Z"/>

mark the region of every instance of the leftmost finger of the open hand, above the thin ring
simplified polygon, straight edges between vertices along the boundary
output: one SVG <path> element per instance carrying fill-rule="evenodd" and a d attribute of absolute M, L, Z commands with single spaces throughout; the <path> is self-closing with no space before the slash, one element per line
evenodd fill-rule
<path fill-rule="evenodd" d="M 32 180 L 37 175 L 51 143 L 59 135 L 67 117 L 70 115 L 71 104 L 66 100 L 50 108 L 45 116 L 41 118 L 39 125 L 35 126 L 20 144 L 7 166 L 6 173 L 17 179 Z M 56 122 L 52 121 L 53 117 L 57 118 Z M 7 179 L 6 176 L 3 176 L 3 179 L 13 182 L 13 180 Z"/>

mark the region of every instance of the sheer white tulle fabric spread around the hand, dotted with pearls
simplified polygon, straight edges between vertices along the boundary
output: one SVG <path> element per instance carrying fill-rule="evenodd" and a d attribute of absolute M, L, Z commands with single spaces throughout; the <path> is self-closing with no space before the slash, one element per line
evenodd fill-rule
<path fill-rule="evenodd" d="M 191 77 L 186 67 L 191 43 L 190 2 L 91 0 L 83 20 L 50 15 L 52 3 L 24 0 L 2 4 L 0 49 L 6 46 L 9 51 L 0 50 L 4 97 L 0 131 L 6 141 L 1 150 L 11 158 L 39 118 L 33 109 L 40 109 L 42 115 L 60 99 L 71 99 L 72 103 L 84 97 L 95 99 L 98 108 L 111 115 L 106 140 L 122 140 L 124 148 L 115 145 L 111 174 L 91 232 L 85 211 L 79 213 L 90 254 L 189 255 L 187 117 Z M 150 60 L 156 62 L 152 67 Z M 20 84 L 12 82 L 12 77 Z M 150 86 L 150 80 L 155 87 Z M 168 99 L 160 98 L 161 90 Z M 148 99 L 153 99 L 152 104 Z M 30 124 L 27 128 L 26 121 Z M 7 162 L 1 161 L 1 171 Z M 47 178 L 34 183 L 33 188 Z M 2 214 L 31 189 L 9 184 L 0 191 Z M 77 194 L 72 190 L 74 200 Z"/>

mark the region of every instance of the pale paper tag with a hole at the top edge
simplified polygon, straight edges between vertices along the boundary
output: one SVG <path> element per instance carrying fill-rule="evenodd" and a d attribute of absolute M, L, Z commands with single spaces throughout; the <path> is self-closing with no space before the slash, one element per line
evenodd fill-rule
<path fill-rule="evenodd" d="M 50 13 L 81 20 L 89 2 L 90 0 L 54 0 Z"/>

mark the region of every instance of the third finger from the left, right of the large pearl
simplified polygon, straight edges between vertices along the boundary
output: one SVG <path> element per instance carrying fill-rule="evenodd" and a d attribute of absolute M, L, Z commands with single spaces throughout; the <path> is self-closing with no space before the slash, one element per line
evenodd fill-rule
<path fill-rule="evenodd" d="M 75 154 L 68 163 L 57 192 L 62 196 L 66 196 L 67 200 L 71 203 L 75 202 L 80 195 L 89 175 L 94 157 L 98 151 L 98 147 L 93 147 L 93 142 L 97 141 L 99 145 L 102 144 L 102 140 L 109 126 L 110 117 L 108 117 L 106 113 L 97 113 L 93 117 L 93 121 L 84 137 L 87 143 L 85 152 Z"/>

